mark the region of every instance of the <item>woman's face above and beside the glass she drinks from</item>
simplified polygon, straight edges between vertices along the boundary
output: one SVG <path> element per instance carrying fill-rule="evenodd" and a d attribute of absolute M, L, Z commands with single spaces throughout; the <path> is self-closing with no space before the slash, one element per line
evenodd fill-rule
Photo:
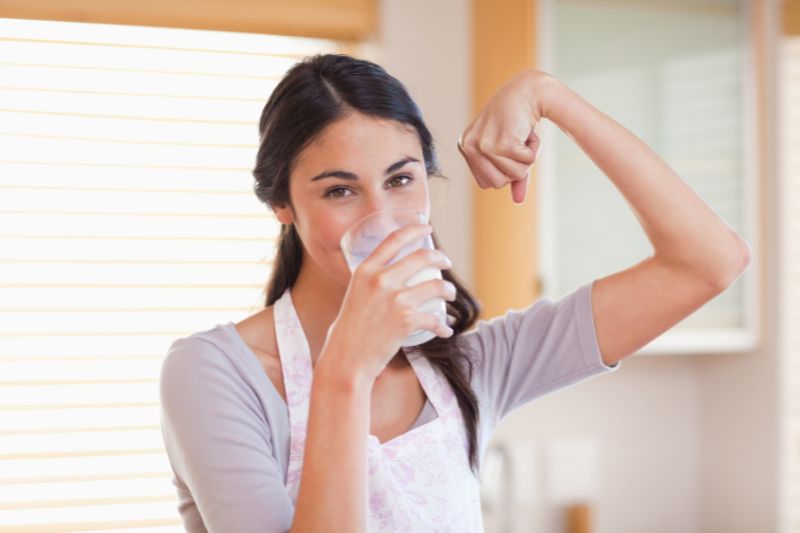
<path fill-rule="evenodd" d="M 351 113 L 325 128 L 298 156 L 289 180 L 293 223 L 320 272 L 341 285 L 350 270 L 339 248 L 344 232 L 378 210 L 413 208 L 430 219 L 428 174 L 416 131 L 397 121 Z M 312 266 L 312 265 L 305 265 Z"/>

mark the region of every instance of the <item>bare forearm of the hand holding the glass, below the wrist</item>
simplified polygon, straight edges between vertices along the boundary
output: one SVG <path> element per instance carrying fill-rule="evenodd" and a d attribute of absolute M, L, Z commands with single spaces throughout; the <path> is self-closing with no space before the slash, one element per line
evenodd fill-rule
<path fill-rule="evenodd" d="M 314 369 L 293 533 L 367 530 L 372 380 L 337 366 L 332 349 Z"/>

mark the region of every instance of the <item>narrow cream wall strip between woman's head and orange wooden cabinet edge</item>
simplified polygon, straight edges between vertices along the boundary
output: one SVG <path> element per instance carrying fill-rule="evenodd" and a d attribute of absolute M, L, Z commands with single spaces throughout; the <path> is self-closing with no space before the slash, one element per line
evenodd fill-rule
<path fill-rule="evenodd" d="M 470 19 L 466 0 L 381 2 L 378 62 L 411 92 L 433 133 L 441 171 L 432 178 L 431 220 L 456 276 L 472 282 L 471 196 L 456 148 L 469 119 Z"/>

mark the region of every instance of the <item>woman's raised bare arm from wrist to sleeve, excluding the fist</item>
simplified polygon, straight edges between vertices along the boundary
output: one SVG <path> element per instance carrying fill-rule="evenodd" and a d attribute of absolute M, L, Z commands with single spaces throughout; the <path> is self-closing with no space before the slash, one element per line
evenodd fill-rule
<path fill-rule="evenodd" d="M 654 250 L 593 287 L 598 343 L 612 364 L 724 291 L 747 266 L 750 249 L 652 149 L 553 80 L 548 118 L 614 183 Z"/>

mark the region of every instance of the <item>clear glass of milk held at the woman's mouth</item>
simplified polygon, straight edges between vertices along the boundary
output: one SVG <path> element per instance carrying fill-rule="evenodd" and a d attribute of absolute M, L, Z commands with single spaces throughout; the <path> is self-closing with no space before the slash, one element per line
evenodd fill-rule
<path fill-rule="evenodd" d="M 350 272 L 353 272 L 356 267 L 361 264 L 364 259 L 369 257 L 372 251 L 385 239 L 390 233 L 400 229 L 408 224 L 427 224 L 428 221 L 424 214 L 416 209 L 390 209 L 384 211 L 375 211 L 370 215 L 358 220 L 352 227 L 350 227 L 342 236 L 340 247 L 344 258 L 347 261 L 347 266 Z M 396 263 L 403 257 L 413 253 L 420 248 L 434 249 L 433 237 L 425 235 L 417 241 L 414 241 L 404 248 L 402 248 L 397 255 L 389 261 L 389 265 Z M 416 285 L 429 279 L 442 279 L 442 271 L 435 267 L 425 267 L 406 280 L 406 287 Z M 443 324 L 447 324 L 447 310 L 443 298 L 436 297 L 426 302 L 419 307 L 419 310 L 424 313 L 434 313 L 439 315 Z M 417 346 L 423 342 L 427 342 L 436 334 L 428 330 L 417 330 L 411 333 L 401 343 L 401 346 Z"/>

